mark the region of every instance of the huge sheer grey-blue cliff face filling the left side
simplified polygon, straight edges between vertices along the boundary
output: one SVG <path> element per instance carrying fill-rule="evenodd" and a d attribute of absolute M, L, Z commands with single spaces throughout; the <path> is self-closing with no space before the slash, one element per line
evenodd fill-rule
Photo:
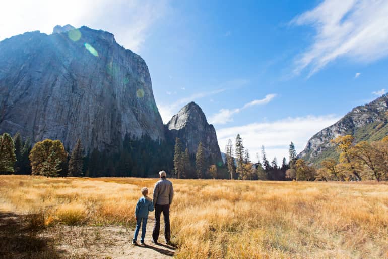
<path fill-rule="evenodd" d="M 0 132 L 70 149 L 80 138 L 87 151 L 117 150 L 125 134 L 164 139 L 144 60 L 111 33 L 64 27 L 0 42 Z"/>

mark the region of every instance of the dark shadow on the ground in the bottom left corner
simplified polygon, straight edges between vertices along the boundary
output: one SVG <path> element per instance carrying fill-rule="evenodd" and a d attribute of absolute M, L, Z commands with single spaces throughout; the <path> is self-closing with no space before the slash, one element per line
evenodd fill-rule
<path fill-rule="evenodd" d="M 52 240 L 42 235 L 41 214 L 19 215 L 0 211 L 0 258 L 59 259 Z"/>

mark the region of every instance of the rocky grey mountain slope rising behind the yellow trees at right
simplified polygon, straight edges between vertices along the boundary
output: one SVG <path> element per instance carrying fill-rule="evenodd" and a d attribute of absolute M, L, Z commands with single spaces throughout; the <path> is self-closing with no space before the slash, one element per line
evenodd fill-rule
<path fill-rule="evenodd" d="M 388 94 L 362 106 L 357 106 L 341 120 L 316 133 L 299 153 L 310 163 L 319 164 L 327 158 L 337 158 L 330 140 L 343 135 L 354 136 L 356 142 L 381 140 L 388 135 Z"/>

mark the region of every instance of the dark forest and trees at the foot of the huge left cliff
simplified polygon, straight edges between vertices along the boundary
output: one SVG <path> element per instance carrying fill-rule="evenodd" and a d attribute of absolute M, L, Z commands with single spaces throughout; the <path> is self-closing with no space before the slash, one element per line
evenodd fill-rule
<path fill-rule="evenodd" d="M 44 176 L 149 177 L 161 168 L 172 170 L 173 143 L 149 136 L 125 136 L 117 152 L 93 149 L 85 154 L 78 140 L 72 152 L 59 140 L 45 139 L 34 146 L 19 133 L 0 135 L 0 173 Z"/>

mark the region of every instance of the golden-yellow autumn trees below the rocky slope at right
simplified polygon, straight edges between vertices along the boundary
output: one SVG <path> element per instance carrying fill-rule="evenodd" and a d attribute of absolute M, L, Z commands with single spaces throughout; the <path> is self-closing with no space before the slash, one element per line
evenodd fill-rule
<path fill-rule="evenodd" d="M 388 136 L 379 141 L 355 143 L 351 135 L 331 140 L 339 159 L 329 158 L 317 167 L 297 159 L 287 170 L 286 176 L 306 181 L 361 181 L 388 180 Z"/>

